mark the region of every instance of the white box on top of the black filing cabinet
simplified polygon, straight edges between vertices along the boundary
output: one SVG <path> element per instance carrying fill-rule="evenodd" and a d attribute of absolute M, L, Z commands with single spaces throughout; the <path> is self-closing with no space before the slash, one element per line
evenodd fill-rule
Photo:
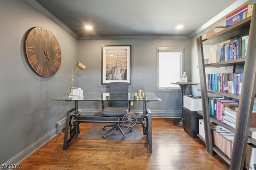
<path fill-rule="evenodd" d="M 184 96 L 183 106 L 190 111 L 202 111 L 202 99 L 198 96 Z"/>

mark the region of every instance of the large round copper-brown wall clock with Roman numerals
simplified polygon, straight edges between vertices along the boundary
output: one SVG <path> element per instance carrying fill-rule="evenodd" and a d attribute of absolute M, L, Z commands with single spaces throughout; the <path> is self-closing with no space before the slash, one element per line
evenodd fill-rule
<path fill-rule="evenodd" d="M 28 63 L 38 75 L 52 77 L 60 69 L 60 45 L 46 28 L 32 28 L 26 36 L 24 46 Z"/>

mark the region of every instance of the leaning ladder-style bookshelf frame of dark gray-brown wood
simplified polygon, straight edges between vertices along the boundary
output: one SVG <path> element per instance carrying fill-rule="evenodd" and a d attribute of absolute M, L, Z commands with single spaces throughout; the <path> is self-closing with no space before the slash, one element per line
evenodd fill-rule
<path fill-rule="evenodd" d="M 203 44 L 218 44 L 234 38 L 239 38 L 249 33 L 248 48 L 245 59 L 236 59 L 231 61 L 223 61 L 218 63 L 204 64 Z M 247 141 L 256 144 L 256 140 L 248 137 L 250 129 L 250 121 L 252 118 L 252 109 L 255 100 L 256 91 L 256 5 L 254 4 L 252 16 L 242 20 L 241 22 L 230 26 L 217 34 L 214 34 L 208 39 L 202 40 L 199 36 L 196 38 L 198 51 L 198 67 L 200 75 L 201 97 L 202 97 L 202 112 L 198 112 L 204 117 L 204 130 L 206 150 L 213 155 L 214 152 L 220 155 L 226 162 L 230 164 L 230 170 L 244 168 L 244 160 L 246 153 Z M 234 93 L 224 93 L 207 89 L 206 84 L 206 67 L 226 67 L 244 65 L 244 77 L 242 90 L 240 95 Z M 239 107 L 237 113 L 236 128 L 232 128 L 214 117 L 209 115 L 208 93 L 216 94 L 224 97 L 239 99 Z M 235 133 L 234 145 L 231 159 L 223 154 L 218 148 L 212 144 L 212 132 L 210 121 L 227 128 Z M 256 120 L 255 120 L 256 121 Z"/>

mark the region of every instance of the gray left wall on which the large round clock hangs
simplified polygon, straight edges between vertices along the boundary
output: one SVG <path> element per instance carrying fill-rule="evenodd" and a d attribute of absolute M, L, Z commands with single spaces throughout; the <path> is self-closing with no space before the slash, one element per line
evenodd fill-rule
<path fill-rule="evenodd" d="M 0 163 L 4 164 L 54 130 L 73 106 L 51 99 L 66 93 L 78 61 L 78 40 L 22 0 L 1 0 L 0 21 Z M 35 26 L 48 28 L 61 47 L 61 67 L 52 78 L 36 75 L 26 62 L 24 38 Z"/>

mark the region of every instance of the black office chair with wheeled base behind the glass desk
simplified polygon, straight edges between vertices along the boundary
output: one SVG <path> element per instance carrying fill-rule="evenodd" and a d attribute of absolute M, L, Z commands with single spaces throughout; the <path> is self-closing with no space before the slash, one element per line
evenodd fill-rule
<path fill-rule="evenodd" d="M 110 93 L 110 99 L 115 99 L 115 97 L 118 97 L 118 94 L 116 93 L 127 93 L 127 99 L 128 99 L 128 83 L 125 82 L 111 82 L 109 85 L 109 93 Z M 110 128 L 103 136 L 103 139 L 106 139 L 106 134 L 111 132 L 112 130 L 116 129 L 119 130 L 122 133 L 122 140 L 125 138 L 125 134 L 121 127 L 126 127 L 125 125 L 121 125 L 120 122 L 122 122 L 122 118 L 124 115 L 130 112 L 130 102 L 128 101 L 108 101 L 108 107 L 104 108 L 102 110 L 102 115 L 106 117 L 117 117 L 117 122 L 114 125 L 106 125 L 103 130 L 106 130 L 106 127 L 112 127 Z M 129 128 L 129 127 L 128 127 Z M 132 128 L 129 128 L 130 132 L 132 132 Z"/>

